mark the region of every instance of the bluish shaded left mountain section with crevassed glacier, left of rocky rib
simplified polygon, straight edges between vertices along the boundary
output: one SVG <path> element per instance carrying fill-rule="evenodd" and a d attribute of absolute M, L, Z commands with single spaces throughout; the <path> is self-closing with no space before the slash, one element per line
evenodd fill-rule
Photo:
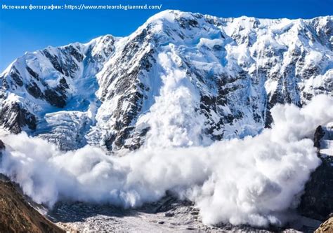
<path fill-rule="evenodd" d="M 96 73 L 114 52 L 116 38 L 102 36 L 27 52 L 1 74 L 0 122 L 10 132 L 22 130 L 77 148 L 86 143 L 98 90 Z"/>

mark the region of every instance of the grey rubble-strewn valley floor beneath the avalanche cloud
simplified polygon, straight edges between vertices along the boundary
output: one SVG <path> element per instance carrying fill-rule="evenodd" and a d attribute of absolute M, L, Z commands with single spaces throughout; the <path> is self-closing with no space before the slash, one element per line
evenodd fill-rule
<path fill-rule="evenodd" d="M 285 229 L 256 229 L 230 224 L 206 226 L 190 202 L 168 196 L 141 209 L 58 203 L 48 217 L 67 232 L 314 232 L 320 221 L 300 217 Z"/>

